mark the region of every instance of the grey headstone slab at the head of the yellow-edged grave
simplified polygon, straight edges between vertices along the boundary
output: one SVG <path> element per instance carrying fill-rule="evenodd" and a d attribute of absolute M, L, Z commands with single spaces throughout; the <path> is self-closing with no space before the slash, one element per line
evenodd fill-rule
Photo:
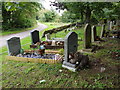
<path fill-rule="evenodd" d="M 7 40 L 8 55 L 17 55 L 20 53 L 21 44 L 19 37 L 13 37 Z"/>

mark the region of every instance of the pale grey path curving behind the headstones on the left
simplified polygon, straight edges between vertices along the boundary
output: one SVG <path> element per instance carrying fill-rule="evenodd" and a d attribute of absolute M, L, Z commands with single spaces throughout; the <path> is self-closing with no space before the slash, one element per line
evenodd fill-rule
<path fill-rule="evenodd" d="M 5 36 L 0 36 L 0 47 L 5 46 L 6 45 L 6 40 L 12 38 L 12 37 L 20 37 L 20 39 L 25 38 L 27 36 L 30 36 L 30 32 L 33 30 L 39 30 L 42 31 L 45 28 L 47 28 L 46 25 L 38 23 L 38 27 L 32 30 L 28 30 L 25 32 L 20 32 L 20 33 L 16 33 L 16 34 L 10 34 L 10 35 L 5 35 Z"/>

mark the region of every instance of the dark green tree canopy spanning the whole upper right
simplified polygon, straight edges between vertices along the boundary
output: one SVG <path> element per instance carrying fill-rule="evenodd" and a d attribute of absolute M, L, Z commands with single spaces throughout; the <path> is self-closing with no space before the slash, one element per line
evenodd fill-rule
<path fill-rule="evenodd" d="M 120 12 L 119 2 L 52 2 L 51 5 L 56 6 L 57 10 L 66 9 L 70 13 L 80 16 L 81 21 L 86 23 L 90 22 L 92 18 L 110 19 L 116 15 L 119 18 Z"/>

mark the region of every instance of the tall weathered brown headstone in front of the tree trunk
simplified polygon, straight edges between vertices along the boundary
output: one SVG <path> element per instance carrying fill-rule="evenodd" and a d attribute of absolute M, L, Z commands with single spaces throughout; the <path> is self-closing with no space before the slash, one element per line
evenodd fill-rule
<path fill-rule="evenodd" d="M 86 24 L 84 29 L 84 48 L 91 48 L 91 25 Z"/>

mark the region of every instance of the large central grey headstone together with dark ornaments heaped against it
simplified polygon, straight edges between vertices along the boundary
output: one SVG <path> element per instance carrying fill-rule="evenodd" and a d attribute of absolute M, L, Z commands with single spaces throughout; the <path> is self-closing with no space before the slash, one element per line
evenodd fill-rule
<path fill-rule="evenodd" d="M 89 58 L 77 52 L 78 35 L 75 32 L 70 32 L 65 37 L 64 42 L 64 61 L 62 67 L 73 72 L 88 64 Z"/>

